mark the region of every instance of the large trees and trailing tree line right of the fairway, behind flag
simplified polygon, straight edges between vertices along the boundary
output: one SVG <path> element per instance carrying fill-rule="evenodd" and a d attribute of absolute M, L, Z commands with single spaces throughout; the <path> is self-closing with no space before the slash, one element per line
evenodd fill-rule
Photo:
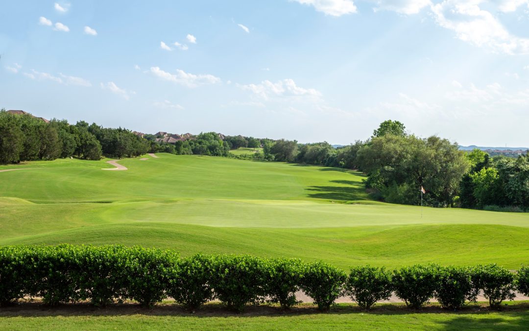
<path fill-rule="evenodd" d="M 423 203 L 496 211 L 529 210 L 529 155 L 489 156 L 459 150 L 438 136 L 407 133 L 403 123 L 382 122 L 366 141 L 333 148 L 327 142 L 267 142 L 254 158 L 359 169 L 367 174 L 372 198 L 390 203 Z"/>

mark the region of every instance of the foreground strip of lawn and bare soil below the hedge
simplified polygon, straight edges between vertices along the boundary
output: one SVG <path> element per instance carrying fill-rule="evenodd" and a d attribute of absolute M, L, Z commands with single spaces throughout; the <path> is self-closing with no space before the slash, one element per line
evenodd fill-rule
<path fill-rule="evenodd" d="M 30 305 L 35 306 L 35 305 Z M 165 305 L 153 310 L 134 305 L 97 309 L 83 305 L 59 308 L 12 307 L 0 310 L 0 328 L 10 330 L 101 330 L 101 329 L 431 329 L 431 330 L 526 330 L 529 328 L 527 303 L 511 303 L 501 311 L 482 304 L 459 312 L 446 312 L 436 306 L 420 312 L 402 305 L 379 305 L 370 312 L 342 304 L 330 313 L 302 305 L 283 314 L 275 307 L 249 308 L 241 315 L 224 311 L 218 305 L 189 314 Z"/>

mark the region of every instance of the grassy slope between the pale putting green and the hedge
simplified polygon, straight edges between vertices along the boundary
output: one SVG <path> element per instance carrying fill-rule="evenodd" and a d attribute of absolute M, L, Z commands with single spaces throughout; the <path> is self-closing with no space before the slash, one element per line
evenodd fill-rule
<path fill-rule="evenodd" d="M 241 229 L 133 222 L 99 225 L 0 240 L 13 244 L 123 244 L 196 253 L 252 254 L 397 267 L 415 263 L 475 265 L 509 269 L 529 264 L 529 228 L 498 225 L 420 225 L 319 229 Z"/>

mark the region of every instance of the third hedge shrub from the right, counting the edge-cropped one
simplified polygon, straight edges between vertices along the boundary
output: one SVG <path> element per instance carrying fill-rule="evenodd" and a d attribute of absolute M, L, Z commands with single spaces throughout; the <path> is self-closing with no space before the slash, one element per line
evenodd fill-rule
<path fill-rule="evenodd" d="M 435 298 L 443 308 L 459 309 L 466 300 L 476 301 L 478 291 L 472 284 L 468 267 L 441 267 L 438 273 Z"/>

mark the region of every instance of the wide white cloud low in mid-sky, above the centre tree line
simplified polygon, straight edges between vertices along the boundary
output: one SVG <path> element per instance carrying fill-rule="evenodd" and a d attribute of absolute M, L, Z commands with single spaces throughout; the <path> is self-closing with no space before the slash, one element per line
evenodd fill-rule
<path fill-rule="evenodd" d="M 304 96 L 318 99 L 322 96 L 314 88 L 303 88 L 296 85 L 293 79 L 283 79 L 276 83 L 263 80 L 261 84 L 238 85 L 242 90 L 251 91 L 262 99 L 269 100 L 271 96 Z"/>

